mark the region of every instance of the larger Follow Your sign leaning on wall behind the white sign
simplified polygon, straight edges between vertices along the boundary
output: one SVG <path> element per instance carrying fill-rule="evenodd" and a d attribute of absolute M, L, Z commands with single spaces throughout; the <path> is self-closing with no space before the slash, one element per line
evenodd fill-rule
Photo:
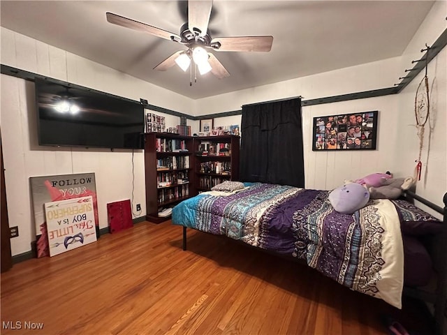
<path fill-rule="evenodd" d="M 94 173 L 59 174 L 54 176 L 30 177 L 31 195 L 36 225 L 37 257 L 50 255 L 45 203 L 81 198 L 91 195 L 93 199 L 96 238 L 99 237 L 98 200 Z"/>

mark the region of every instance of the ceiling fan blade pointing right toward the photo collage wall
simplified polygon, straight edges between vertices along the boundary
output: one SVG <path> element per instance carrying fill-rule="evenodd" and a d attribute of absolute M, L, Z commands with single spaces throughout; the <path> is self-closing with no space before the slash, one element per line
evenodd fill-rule
<path fill-rule="evenodd" d="M 217 37 L 211 40 L 216 51 L 269 52 L 272 43 L 273 36 Z"/>

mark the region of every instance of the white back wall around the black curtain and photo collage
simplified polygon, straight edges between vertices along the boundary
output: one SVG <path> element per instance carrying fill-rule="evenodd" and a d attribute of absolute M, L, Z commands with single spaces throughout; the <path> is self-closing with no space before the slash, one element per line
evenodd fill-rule
<path fill-rule="evenodd" d="M 293 96 L 303 100 L 349 94 L 371 89 L 393 87 L 400 72 L 400 58 L 376 61 L 370 64 L 342 68 L 286 82 L 235 91 L 221 96 L 194 101 L 197 111 L 225 112 L 240 110 L 247 103 L 269 101 Z M 381 75 L 376 75 L 381 73 Z M 305 151 L 305 187 L 332 189 L 344 179 L 357 179 L 372 172 L 386 172 L 393 168 L 394 126 L 397 122 L 397 96 L 358 99 L 340 103 L 312 105 L 302 108 L 303 140 Z M 374 151 L 312 151 L 312 121 L 314 117 L 379 110 L 377 150 Z M 240 116 L 231 117 L 240 124 Z M 220 118 L 214 124 L 224 124 Z"/>

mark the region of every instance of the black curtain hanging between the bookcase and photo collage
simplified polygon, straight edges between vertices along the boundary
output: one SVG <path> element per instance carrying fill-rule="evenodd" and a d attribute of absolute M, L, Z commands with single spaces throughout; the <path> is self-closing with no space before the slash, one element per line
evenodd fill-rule
<path fill-rule="evenodd" d="M 242 106 L 240 180 L 304 188 L 301 99 Z"/>

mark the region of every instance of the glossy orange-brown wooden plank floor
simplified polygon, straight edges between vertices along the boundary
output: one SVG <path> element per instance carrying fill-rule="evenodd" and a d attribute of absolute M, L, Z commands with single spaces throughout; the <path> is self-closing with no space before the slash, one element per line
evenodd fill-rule
<path fill-rule="evenodd" d="M 170 221 L 1 274 L 1 334 L 389 334 L 382 314 L 430 334 L 413 301 L 398 311 L 305 265 L 193 230 L 182 251 L 182 228 Z"/>

